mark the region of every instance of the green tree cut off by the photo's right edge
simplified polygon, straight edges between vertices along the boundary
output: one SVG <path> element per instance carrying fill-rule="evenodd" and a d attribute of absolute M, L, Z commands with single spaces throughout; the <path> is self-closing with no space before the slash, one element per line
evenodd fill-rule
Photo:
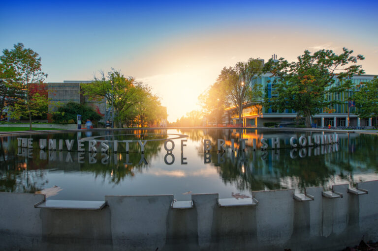
<path fill-rule="evenodd" d="M 353 100 L 356 104 L 356 114 L 363 118 L 375 117 L 378 125 L 378 78 L 364 84 L 359 91 L 354 92 Z"/>

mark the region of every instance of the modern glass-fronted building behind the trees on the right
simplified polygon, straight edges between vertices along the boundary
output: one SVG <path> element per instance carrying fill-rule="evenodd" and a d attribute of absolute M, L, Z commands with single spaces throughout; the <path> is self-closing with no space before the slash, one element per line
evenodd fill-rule
<path fill-rule="evenodd" d="M 358 91 L 364 82 L 369 82 L 373 80 L 376 75 L 354 75 L 352 78 L 353 87 L 341 93 L 330 94 L 326 99 L 342 101 L 342 104 L 335 104 L 328 107 L 328 111 L 323 109 L 319 110 L 319 113 L 312 116 L 312 123 L 316 124 L 317 127 L 326 127 L 331 125 L 332 127 L 363 127 L 372 126 L 372 118 L 360 118 L 355 112 L 355 107 L 349 108 L 349 123 L 348 123 L 348 97 L 353 95 L 354 91 Z M 274 77 L 270 73 L 266 73 L 257 79 L 258 83 L 262 85 L 263 96 L 271 98 L 272 90 L 274 90 Z M 339 84 L 339 80 L 336 79 L 335 84 Z M 273 85 L 273 86 L 272 86 Z M 254 102 L 255 104 L 256 102 Z M 258 104 L 260 103 L 260 104 Z M 239 115 L 237 114 L 237 107 L 229 107 L 225 109 L 228 113 L 228 117 L 232 119 L 229 121 L 234 125 L 240 125 L 241 123 L 245 127 L 263 127 L 266 122 L 277 122 L 277 123 L 290 123 L 294 122 L 297 113 L 293 110 L 286 109 L 284 111 L 273 111 L 270 108 L 265 108 L 261 106 L 262 98 L 257 102 L 257 105 L 247 104 L 243 109 L 243 121 L 239 121 Z"/>

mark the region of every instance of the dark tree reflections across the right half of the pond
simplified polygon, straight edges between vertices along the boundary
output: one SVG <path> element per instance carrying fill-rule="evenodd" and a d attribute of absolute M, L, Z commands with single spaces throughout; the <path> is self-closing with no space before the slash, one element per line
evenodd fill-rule
<path fill-rule="evenodd" d="M 224 130 L 226 131 L 226 130 Z M 223 131 L 223 132 L 224 132 Z M 264 132 L 268 134 L 268 132 Z M 241 134 L 233 131 L 232 134 L 217 134 L 214 130 L 207 131 L 207 138 L 211 139 L 213 150 L 217 151 L 217 139 L 227 139 L 227 136 L 235 139 L 245 138 L 247 132 Z M 296 133 L 297 139 L 300 136 L 310 136 L 310 133 Z M 293 135 L 293 136 L 294 136 Z M 268 137 L 269 138 L 269 137 Z M 269 138 L 270 140 L 270 138 Z M 290 149 L 280 149 L 272 153 L 272 150 L 259 151 L 253 153 L 252 147 L 247 145 L 247 160 L 243 159 L 242 153 L 232 159 L 231 152 L 226 152 L 227 156 L 223 162 L 219 161 L 219 154 L 211 153 L 211 162 L 217 168 L 224 183 L 235 184 L 238 189 L 251 191 L 283 188 L 306 188 L 313 186 L 328 186 L 336 182 L 338 175 L 342 180 L 353 185 L 353 172 L 365 171 L 373 168 L 378 171 L 378 137 L 370 135 L 360 135 L 358 137 L 341 138 L 339 150 L 333 151 L 333 146 L 319 146 L 324 148 L 324 154 L 314 156 L 314 148 L 311 149 L 312 156 L 300 157 L 296 150 L 296 157 L 290 157 Z M 349 142 L 349 143 L 348 143 Z M 358 146 L 358 149 L 355 149 Z M 308 153 L 309 148 L 306 148 Z M 318 150 L 320 150 L 320 148 Z M 203 155 L 203 142 L 197 148 L 198 153 Z M 330 151 L 331 149 L 331 151 Z M 251 158 L 254 154 L 255 158 Z M 250 156 L 250 157 L 249 157 Z M 340 174 L 338 174 L 340 173 Z M 287 181 L 287 184 L 285 183 Z"/>

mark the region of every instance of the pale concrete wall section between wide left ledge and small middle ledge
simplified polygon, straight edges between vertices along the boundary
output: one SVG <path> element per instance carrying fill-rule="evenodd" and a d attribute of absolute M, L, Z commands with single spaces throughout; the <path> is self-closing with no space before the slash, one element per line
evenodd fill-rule
<path fill-rule="evenodd" d="M 173 195 L 105 196 L 114 250 L 161 250 L 172 200 Z"/>

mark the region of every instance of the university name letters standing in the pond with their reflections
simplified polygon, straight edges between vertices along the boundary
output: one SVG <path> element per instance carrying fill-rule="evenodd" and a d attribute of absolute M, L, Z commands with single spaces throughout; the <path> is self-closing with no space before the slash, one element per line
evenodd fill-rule
<path fill-rule="evenodd" d="M 33 152 L 32 152 L 32 139 L 27 139 L 27 138 L 17 138 L 18 140 L 18 153 L 17 156 L 25 157 L 25 158 L 33 158 Z M 239 139 L 239 151 L 242 154 L 238 154 L 238 158 L 242 158 L 242 161 L 246 161 L 246 155 L 244 150 L 246 149 L 246 141 L 248 139 Z M 253 151 L 255 150 L 256 147 L 256 139 L 253 139 Z M 63 142 L 65 142 L 66 150 L 65 156 L 63 153 L 60 151 L 59 152 L 59 159 L 58 161 L 60 162 L 66 162 L 66 163 L 73 163 L 74 158 L 72 158 L 71 155 L 71 149 L 73 147 L 74 139 L 68 140 L 65 139 L 59 139 L 59 150 L 63 150 Z M 126 165 L 133 165 L 132 162 L 129 160 L 129 154 L 128 154 L 128 144 L 132 142 L 131 140 L 126 140 L 126 160 L 125 164 Z M 148 140 L 138 140 L 138 144 L 140 145 L 141 149 L 141 156 L 140 156 L 140 161 L 138 162 L 137 165 L 148 165 L 147 160 L 144 157 L 144 149 L 145 146 L 148 142 Z M 186 157 L 184 157 L 184 146 L 187 146 L 185 144 L 187 142 L 187 139 L 182 139 L 181 140 L 181 165 L 188 165 L 188 160 Z M 218 164 L 224 164 L 227 158 L 226 155 L 226 145 L 225 145 L 225 140 L 224 139 L 218 139 L 216 141 L 218 143 Z M 231 140 L 231 151 L 233 152 L 234 150 L 234 139 Z M 97 163 L 97 150 L 101 150 L 101 164 L 107 165 L 110 162 L 113 162 L 114 164 L 118 163 L 119 158 L 121 158 L 121 155 L 118 156 L 116 154 L 117 148 L 118 148 L 118 142 L 117 140 L 114 140 L 114 156 L 113 158 L 110 158 L 108 155 L 108 152 L 110 150 L 108 141 L 96 141 L 96 140 L 90 140 L 88 143 L 88 163 L 89 164 L 96 164 Z M 211 145 L 211 140 L 210 139 L 204 139 L 204 164 L 211 163 L 211 153 L 210 150 L 212 149 Z M 262 138 L 260 140 L 261 143 L 261 150 L 266 150 L 269 146 L 268 144 L 268 139 Z M 271 147 L 272 147 L 272 153 L 271 157 L 272 160 L 279 160 L 280 158 L 280 139 L 279 138 L 271 138 L 270 140 Z M 296 139 L 295 137 L 291 137 L 289 139 L 289 145 L 292 147 L 292 149 L 289 152 L 289 156 L 292 159 L 295 159 L 297 157 L 299 158 L 304 158 L 306 156 L 311 157 L 312 155 L 317 156 L 320 154 L 327 154 L 330 152 L 336 152 L 339 151 L 339 137 L 336 133 L 334 134 L 323 134 L 323 135 L 315 135 L 313 137 L 308 136 L 307 138 L 304 136 L 299 137 L 299 139 Z M 97 148 L 96 145 L 99 145 L 100 147 Z M 305 148 L 305 146 L 308 146 L 308 148 Z M 300 147 L 300 148 L 298 148 Z M 47 156 L 49 161 L 57 161 L 57 140 L 56 139 L 40 139 L 39 140 L 39 159 L 40 160 L 47 160 Z M 48 149 L 48 155 L 45 149 Z M 175 143 L 171 139 L 167 139 L 164 142 L 164 148 L 167 151 L 167 153 L 164 156 L 164 163 L 166 165 L 172 165 L 175 162 L 175 156 L 173 155 L 172 151 L 175 148 Z M 77 153 L 76 153 L 76 160 L 78 163 L 83 164 L 85 161 L 85 152 L 84 152 L 84 141 L 83 140 L 77 140 Z M 231 154 L 230 158 L 232 161 L 234 161 L 235 155 Z M 253 159 L 254 158 L 254 152 L 253 152 Z M 268 159 L 268 153 L 267 152 L 262 152 L 260 159 L 263 161 L 266 161 Z"/>

